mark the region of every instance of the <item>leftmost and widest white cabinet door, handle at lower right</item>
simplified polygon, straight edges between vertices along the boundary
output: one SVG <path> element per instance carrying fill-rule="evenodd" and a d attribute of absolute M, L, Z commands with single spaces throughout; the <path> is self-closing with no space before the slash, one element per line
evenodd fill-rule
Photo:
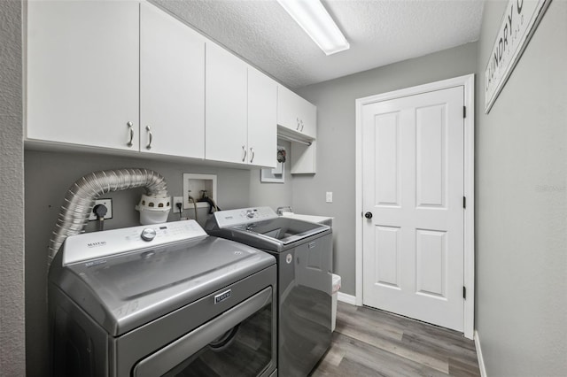
<path fill-rule="evenodd" d="M 27 139 L 138 150 L 138 37 L 137 2 L 30 0 Z"/>

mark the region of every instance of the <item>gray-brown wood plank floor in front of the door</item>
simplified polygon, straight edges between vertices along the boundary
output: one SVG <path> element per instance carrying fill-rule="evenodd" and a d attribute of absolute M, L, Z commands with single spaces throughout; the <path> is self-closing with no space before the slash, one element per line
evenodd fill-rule
<path fill-rule="evenodd" d="M 330 349 L 312 376 L 480 376 L 462 334 L 367 307 L 338 303 Z"/>

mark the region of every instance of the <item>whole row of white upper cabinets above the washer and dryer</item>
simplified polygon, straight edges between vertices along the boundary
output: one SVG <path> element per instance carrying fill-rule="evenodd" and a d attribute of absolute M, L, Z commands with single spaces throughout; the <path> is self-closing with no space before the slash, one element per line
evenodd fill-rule
<path fill-rule="evenodd" d="M 27 5 L 26 142 L 276 166 L 276 81 L 145 1 Z M 280 91 L 313 140 L 315 106 Z"/>

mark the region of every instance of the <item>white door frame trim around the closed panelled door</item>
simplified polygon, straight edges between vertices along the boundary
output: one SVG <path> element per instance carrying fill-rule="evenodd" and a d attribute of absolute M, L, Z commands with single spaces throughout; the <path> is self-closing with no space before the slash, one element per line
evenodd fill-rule
<path fill-rule="evenodd" d="M 463 279 L 466 287 L 466 299 L 464 300 L 463 328 L 464 336 L 473 339 L 474 314 L 475 314 L 475 181 L 474 181 L 474 142 L 475 142 L 475 75 L 467 74 L 443 81 L 431 82 L 411 88 L 403 88 L 374 96 L 366 96 L 356 99 L 356 206 L 355 206 L 355 304 L 362 305 L 362 107 L 365 104 L 388 101 L 404 96 L 415 96 L 434 90 L 464 87 L 464 105 L 466 113 L 464 118 L 464 196 L 466 197 L 466 208 L 464 210 L 464 265 Z"/>

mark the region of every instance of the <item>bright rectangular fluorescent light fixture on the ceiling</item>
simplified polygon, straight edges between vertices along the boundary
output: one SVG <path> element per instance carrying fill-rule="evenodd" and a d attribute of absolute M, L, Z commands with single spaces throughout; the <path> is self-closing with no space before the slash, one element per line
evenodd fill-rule
<path fill-rule="evenodd" d="M 325 54 L 348 50 L 351 46 L 320 0 L 277 0 L 292 19 L 305 30 Z"/>

